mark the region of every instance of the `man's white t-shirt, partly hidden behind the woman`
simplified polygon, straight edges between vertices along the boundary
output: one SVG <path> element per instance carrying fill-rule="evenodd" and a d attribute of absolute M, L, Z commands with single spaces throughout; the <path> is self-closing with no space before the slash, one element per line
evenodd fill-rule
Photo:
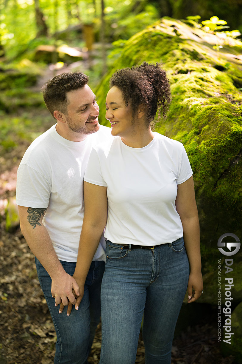
<path fill-rule="evenodd" d="M 16 203 L 47 208 L 43 224 L 60 260 L 76 262 L 84 216 L 83 178 L 92 147 L 113 139 L 100 125 L 82 142 L 62 138 L 53 125 L 29 146 L 17 172 Z M 93 260 L 105 261 L 101 238 Z"/>

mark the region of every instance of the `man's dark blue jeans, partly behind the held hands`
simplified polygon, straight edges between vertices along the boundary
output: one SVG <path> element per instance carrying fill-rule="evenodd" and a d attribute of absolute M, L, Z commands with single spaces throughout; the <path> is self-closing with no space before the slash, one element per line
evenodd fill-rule
<path fill-rule="evenodd" d="M 44 292 L 56 330 L 54 364 L 86 364 L 97 324 L 100 322 L 100 290 L 105 263 L 93 261 L 86 277 L 84 296 L 78 311 L 72 308 L 67 316 L 67 306 L 59 314 L 51 294 L 51 277 L 35 258 L 40 286 Z M 60 261 L 66 273 L 74 274 L 76 263 Z"/>

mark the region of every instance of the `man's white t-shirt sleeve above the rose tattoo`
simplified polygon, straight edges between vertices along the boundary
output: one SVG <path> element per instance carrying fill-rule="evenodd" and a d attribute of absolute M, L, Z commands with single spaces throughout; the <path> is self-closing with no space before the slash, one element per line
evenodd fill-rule
<path fill-rule="evenodd" d="M 16 204 L 25 207 L 46 208 L 49 205 L 51 184 L 34 168 L 23 164 L 17 171 Z"/>

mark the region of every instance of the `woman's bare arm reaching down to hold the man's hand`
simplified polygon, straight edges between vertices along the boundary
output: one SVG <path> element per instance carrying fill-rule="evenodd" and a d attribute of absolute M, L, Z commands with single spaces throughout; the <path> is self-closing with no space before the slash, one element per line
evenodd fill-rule
<path fill-rule="evenodd" d="M 76 269 L 73 274 L 73 278 L 80 288 L 80 296 L 77 297 L 75 304 L 77 310 L 84 294 L 86 276 L 107 221 L 107 187 L 93 185 L 84 181 L 84 209 Z M 64 306 L 61 304 L 60 313 L 63 308 Z M 72 303 L 69 302 L 68 316 L 71 310 Z"/>

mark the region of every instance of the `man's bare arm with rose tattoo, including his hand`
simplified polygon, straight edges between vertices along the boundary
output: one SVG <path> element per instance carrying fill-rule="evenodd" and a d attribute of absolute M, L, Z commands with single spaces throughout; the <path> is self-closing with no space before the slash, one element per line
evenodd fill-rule
<path fill-rule="evenodd" d="M 62 301 L 76 303 L 72 289 L 79 296 L 79 287 L 62 267 L 53 248 L 51 238 L 43 225 L 42 219 L 47 209 L 19 206 L 20 228 L 29 248 L 47 270 L 52 279 L 51 293 L 56 305 Z"/>

